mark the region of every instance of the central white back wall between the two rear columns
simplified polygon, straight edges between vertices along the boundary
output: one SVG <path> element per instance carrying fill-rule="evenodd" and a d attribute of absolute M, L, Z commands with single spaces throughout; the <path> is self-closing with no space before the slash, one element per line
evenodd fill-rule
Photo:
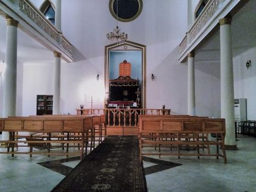
<path fill-rule="evenodd" d="M 65 12 L 69 14 L 65 15 Z M 94 89 L 104 87 L 104 46 L 108 44 L 105 35 L 116 26 L 116 20 L 108 10 L 108 1 L 80 0 L 77 4 L 62 1 L 62 13 L 62 21 L 65 21 L 62 23 L 63 34 L 79 50 L 75 63 L 62 65 L 62 84 L 65 84 L 62 99 L 66 101 L 62 110 L 72 112 L 84 102 L 84 93 L 90 95 Z M 187 1 L 165 0 L 159 4 L 148 0 L 143 1 L 143 11 L 137 20 L 119 22 L 119 27 L 127 32 L 130 41 L 147 46 L 148 108 L 161 108 L 165 104 L 166 108 L 187 113 L 187 104 L 183 102 L 187 101 L 187 89 L 182 88 L 187 86 L 184 81 L 187 67 L 177 62 L 177 46 L 187 30 L 186 13 Z M 156 76 L 154 82 L 152 73 Z M 99 82 L 96 74 L 100 76 Z M 96 107 L 103 105 L 104 93 L 105 90 Z"/>

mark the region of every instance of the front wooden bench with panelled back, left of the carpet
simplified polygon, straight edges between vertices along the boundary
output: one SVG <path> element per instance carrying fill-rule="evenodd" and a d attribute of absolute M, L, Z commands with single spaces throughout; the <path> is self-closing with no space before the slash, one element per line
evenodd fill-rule
<path fill-rule="evenodd" d="M 19 152 L 14 151 L 15 145 L 18 143 L 27 143 L 27 144 L 44 144 L 48 146 L 53 143 L 78 143 L 81 146 L 80 149 L 80 159 L 85 154 L 87 154 L 87 143 L 88 143 L 88 132 L 92 127 L 93 119 L 91 116 L 77 116 L 77 117 L 12 117 L 12 118 L 0 118 L 0 130 L 10 133 L 9 140 L 2 140 L 0 143 L 8 144 L 7 151 L 0 152 L 0 154 L 55 154 L 59 155 L 60 153 L 51 151 L 48 148 L 48 152 Z M 33 132 L 33 133 L 80 133 L 80 139 L 77 140 L 15 140 L 16 132 Z M 12 151 L 10 151 L 12 149 Z M 68 154 L 69 152 L 62 152 L 61 154 Z M 75 152 L 77 153 L 77 152 Z"/>

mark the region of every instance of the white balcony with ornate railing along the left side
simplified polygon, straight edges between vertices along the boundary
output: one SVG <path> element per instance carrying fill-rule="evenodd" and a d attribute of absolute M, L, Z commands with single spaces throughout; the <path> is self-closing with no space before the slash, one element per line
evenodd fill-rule
<path fill-rule="evenodd" d="M 66 62 L 72 62 L 72 44 L 62 35 L 54 24 L 29 0 L 1 0 L 0 15 L 10 16 L 19 21 L 19 27 L 35 38 L 50 51 L 62 53 Z"/>

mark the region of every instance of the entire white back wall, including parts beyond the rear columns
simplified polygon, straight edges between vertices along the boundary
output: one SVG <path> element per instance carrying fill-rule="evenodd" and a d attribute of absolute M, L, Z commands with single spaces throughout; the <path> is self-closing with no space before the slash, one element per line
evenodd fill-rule
<path fill-rule="evenodd" d="M 136 20 L 118 23 L 130 41 L 146 45 L 147 108 L 162 108 L 165 104 L 174 113 L 187 114 L 187 65 L 177 59 L 178 45 L 187 31 L 187 3 L 143 1 L 143 11 Z M 108 1 L 62 1 L 62 30 L 74 45 L 75 61 L 62 61 L 60 112 L 74 114 L 80 104 L 90 107 L 84 102 L 85 94 L 99 98 L 94 108 L 104 106 L 104 47 L 108 44 L 105 35 L 115 26 Z M 53 93 L 53 61 L 24 63 L 23 115 L 36 113 L 37 94 Z M 219 94 L 219 78 L 196 69 L 196 113 L 220 116 Z"/>

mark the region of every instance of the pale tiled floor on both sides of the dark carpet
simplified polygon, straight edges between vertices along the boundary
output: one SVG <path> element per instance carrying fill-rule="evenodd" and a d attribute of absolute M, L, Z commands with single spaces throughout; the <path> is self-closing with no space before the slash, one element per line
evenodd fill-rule
<path fill-rule="evenodd" d="M 256 138 L 239 135 L 237 146 L 238 151 L 227 151 L 227 164 L 215 157 L 144 158 L 148 191 L 256 191 Z M 51 191 L 65 177 L 59 169 L 70 171 L 78 162 L 1 154 L 0 191 Z"/>

